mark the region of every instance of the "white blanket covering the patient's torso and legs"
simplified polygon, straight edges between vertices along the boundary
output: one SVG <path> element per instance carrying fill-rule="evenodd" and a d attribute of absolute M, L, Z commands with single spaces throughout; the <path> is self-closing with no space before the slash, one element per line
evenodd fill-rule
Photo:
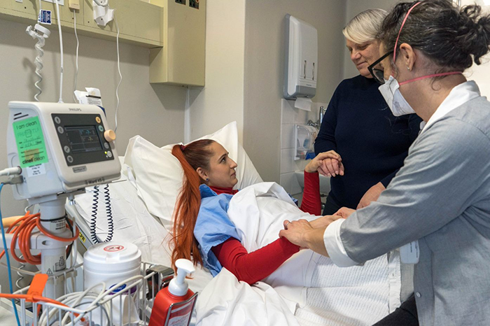
<path fill-rule="evenodd" d="M 283 220 L 315 218 L 300 211 L 276 183 L 241 190 L 230 201 L 228 215 L 248 252 L 275 241 Z M 311 250 L 301 250 L 265 283 L 253 286 L 223 269 L 198 299 L 197 325 L 372 325 L 388 314 L 387 274 L 386 255 L 342 269 Z M 288 318 L 290 313 L 297 320 Z M 249 323 L 251 316 L 262 322 Z"/>

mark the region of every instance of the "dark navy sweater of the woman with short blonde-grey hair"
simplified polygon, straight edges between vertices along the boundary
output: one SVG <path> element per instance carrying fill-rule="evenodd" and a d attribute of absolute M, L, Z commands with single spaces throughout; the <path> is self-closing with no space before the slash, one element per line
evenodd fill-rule
<path fill-rule="evenodd" d="M 339 206 L 356 208 L 376 183 L 386 187 L 403 165 L 419 134 L 418 115 L 395 117 L 372 78 L 343 80 L 330 99 L 315 141 L 315 153 L 335 150 L 344 176 L 330 179 L 329 196 Z"/>

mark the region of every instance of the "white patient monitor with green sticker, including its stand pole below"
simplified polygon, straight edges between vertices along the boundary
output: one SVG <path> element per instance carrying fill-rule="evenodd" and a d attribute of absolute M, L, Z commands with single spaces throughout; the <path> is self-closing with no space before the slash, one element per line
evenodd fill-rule
<path fill-rule="evenodd" d="M 116 134 L 98 106 L 11 101 L 8 107 L 8 165 L 20 167 L 13 195 L 39 204 L 43 229 L 65 239 L 31 236 L 31 248 L 41 250 L 41 271 L 52 275 L 66 268 L 66 246 L 74 236 L 66 229 L 66 197 L 120 177 Z M 62 288 L 51 285 L 46 296 L 62 295 Z"/>

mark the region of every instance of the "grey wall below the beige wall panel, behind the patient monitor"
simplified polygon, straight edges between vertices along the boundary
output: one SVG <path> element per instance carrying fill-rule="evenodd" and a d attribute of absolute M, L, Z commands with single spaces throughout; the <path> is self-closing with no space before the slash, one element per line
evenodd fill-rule
<path fill-rule="evenodd" d="M 8 123 L 8 101 L 34 100 L 34 41 L 25 33 L 25 24 L 0 20 L 0 169 L 7 167 L 6 128 Z M 59 94 L 59 41 L 57 30 L 45 45 L 41 87 L 42 101 L 57 101 Z M 64 33 L 64 95 L 65 102 L 71 102 L 76 49 L 73 34 Z M 153 143 L 163 146 L 183 139 L 184 106 L 186 89 L 183 87 L 150 85 L 148 83 L 148 49 L 120 44 L 121 71 L 123 83 L 120 86 L 120 108 L 118 115 L 118 140 L 116 148 L 124 155 L 127 141 L 140 134 Z M 78 89 L 99 87 L 102 90 L 104 106 L 109 125 L 114 126 L 116 108 L 116 85 L 118 72 L 116 64 L 116 43 L 80 36 L 80 59 Z M 1 194 L 3 216 L 20 215 L 26 204 L 12 197 L 9 185 Z M 0 283 L 5 292 L 6 269 L 0 267 Z"/>

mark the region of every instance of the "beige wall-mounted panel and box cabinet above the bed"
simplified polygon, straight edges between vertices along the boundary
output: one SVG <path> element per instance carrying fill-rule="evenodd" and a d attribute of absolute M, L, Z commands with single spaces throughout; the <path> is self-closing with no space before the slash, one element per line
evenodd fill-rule
<path fill-rule="evenodd" d="M 64 3 L 62 29 L 73 33 L 73 10 Z M 38 6 L 38 1 L 0 0 L 0 19 L 34 25 Z M 204 86 L 206 0 L 110 0 L 109 6 L 116 10 L 120 41 L 150 48 L 150 83 Z M 44 26 L 56 33 L 55 4 L 43 1 L 42 8 L 52 13 L 52 25 Z M 80 0 L 76 28 L 80 35 L 116 41 L 116 23 L 97 25 L 92 0 Z"/>

